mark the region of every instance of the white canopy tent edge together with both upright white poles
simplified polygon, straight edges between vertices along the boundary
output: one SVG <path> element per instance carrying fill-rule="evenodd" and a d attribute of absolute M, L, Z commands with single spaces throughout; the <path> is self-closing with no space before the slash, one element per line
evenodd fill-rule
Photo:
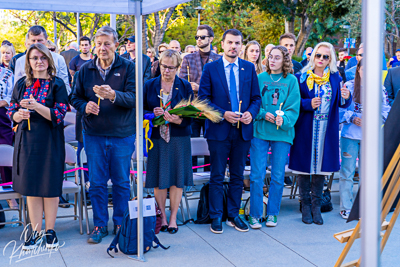
<path fill-rule="evenodd" d="M 142 15 L 166 9 L 189 0 L 0 0 L 0 8 L 17 10 L 38 10 L 79 13 L 106 13 L 135 15 L 135 33 L 137 40 L 142 40 Z M 381 86 L 382 58 L 376 51 L 382 51 L 383 42 L 383 0 L 363 1 L 363 41 L 366 44 L 364 61 L 366 88 L 363 96 L 363 145 L 362 173 L 364 179 L 361 187 L 362 221 L 362 266 L 380 265 L 380 179 L 382 175 L 382 130 L 380 127 L 381 93 L 376 90 Z M 143 69 L 142 43 L 136 44 L 136 144 L 138 158 L 138 260 L 143 257 Z M 369 89 L 371 88 L 371 90 Z"/>

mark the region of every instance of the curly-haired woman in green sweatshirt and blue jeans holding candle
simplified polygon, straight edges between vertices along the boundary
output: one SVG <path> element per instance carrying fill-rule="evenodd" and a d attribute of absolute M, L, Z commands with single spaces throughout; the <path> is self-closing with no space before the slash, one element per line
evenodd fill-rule
<path fill-rule="evenodd" d="M 250 148 L 250 217 L 253 229 L 261 228 L 263 186 L 271 148 L 271 186 L 267 206 L 267 226 L 277 225 L 285 165 L 290 145 L 293 144 L 294 124 L 300 112 L 299 84 L 293 73 L 288 50 L 283 46 L 271 49 L 267 71 L 258 75 L 262 105 L 254 123 L 254 138 Z M 279 112 L 282 111 L 282 112 Z"/>

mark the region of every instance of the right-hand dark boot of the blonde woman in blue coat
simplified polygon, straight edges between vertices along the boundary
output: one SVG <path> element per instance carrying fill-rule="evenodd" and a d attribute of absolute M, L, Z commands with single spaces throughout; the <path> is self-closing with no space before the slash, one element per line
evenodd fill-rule
<path fill-rule="evenodd" d="M 311 179 L 311 212 L 315 224 L 322 225 L 324 220 L 321 215 L 322 191 L 324 189 L 324 175 L 313 175 Z"/>

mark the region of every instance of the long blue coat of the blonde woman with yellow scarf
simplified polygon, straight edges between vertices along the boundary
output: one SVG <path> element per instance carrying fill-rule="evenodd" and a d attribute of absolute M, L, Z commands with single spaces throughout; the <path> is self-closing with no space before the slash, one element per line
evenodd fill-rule
<path fill-rule="evenodd" d="M 299 119 L 294 126 L 295 137 L 290 148 L 289 168 L 295 171 L 310 173 L 314 109 L 311 100 L 315 97 L 314 90 L 309 90 L 307 80 L 300 83 L 300 74 L 296 74 L 300 84 L 301 105 Z M 339 107 L 350 106 L 352 96 L 341 105 L 340 82 L 342 78 L 339 72 L 331 73 L 329 82 L 332 87 L 332 99 L 329 109 L 328 126 L 324 142 L 324 155 L 322 159 L 323 172 L 337 172 L 340 169 L 339 163 Z"/>

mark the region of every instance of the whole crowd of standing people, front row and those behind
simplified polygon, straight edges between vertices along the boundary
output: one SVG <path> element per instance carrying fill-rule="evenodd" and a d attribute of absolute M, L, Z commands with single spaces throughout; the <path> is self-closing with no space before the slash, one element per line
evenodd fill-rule
<path fill-rule="evenodd" d="M 64 124 L 76 112 L 77 155 L 88 157 L 88 196 L 94 229 L 88 239 L 100 243 L 108 235 L 108 190 L 112 182 L 113 233 L 121 227 L 130 198 L 129 170 L 135 149 L 136 91 L 143 90 L 145 114 L 163 116 L 153 128 L 147 161 L 146 188 L 163 214 L 161 231 L 178 232 L 177 211 L 185 188 L 193 185 L 191 137 L 207 139 L 210 157 L 210 230 L 226 225 L 246 232 L 262 227 L 266 170 L 271 186 L 266 225 L 276 226 L 288 165 L 299 186 L 302 221 L 323 224 L 321 201 L 326 176 L 340 171 L 340 215 L 347 219 L 353 204 L 353 180 L 362 140 L 363 45 L 348 59 L 329 42 L 308 47 L 303 61 L 293 59 L 296 37 L 285 33 L 264 49 L 253 40 L 243 43 L 236 29 L 224 32 L 222 52 L 212 46 L 214 31 L 197 27 L 193 45 L 176 40 L 143 54 L 144 88 L 136 88 L 135 36 L 118 41 L 110 27 L 93 40 L 83 36 L 67 51 L 48 40 L 42 26 L 26 33 L 24 53 L 3 41 L 0 68 L 0 144 L 15 147 L 13 168 L 1 168 L 2 182 L 27 196 L 33 235 L 23 249 L 37 246 L 45 214 L 46 245 L 58 246 L 55 220 L 64 171 Z M 195 44 L 195 45 L 194 45 Z M 80 52 L 78 51 L 80 50 Z M 263 53 L 264 52 L 264 53 Z M 400 51 L 388 62 L 382 88 L 382 123 L 400 87 Z M 386 73 L 385 73 L 386 74 Z M 191 119 L 168 111 L 181 100 L 197 97 L 219 111 L 223 120 Z M 270 154 L 270 155 L 269 155 Z M 248 222 L 239 216 L 244 169 L 250 160 L 251 209 Z M 229 159 L 229 160 L 228 160 Z M 230 181 L 226 206 L 223 182 L 227 164 Z M 51 167 L 50 167 L 51 166 Z M 208 169 L 206 169 L 208 170 Z M 34 175 L 32 175 L 34 173 Z M 362 177 L 361 177 L 362 179 Z M 165 211 L 170 199 L 169 220 Z M 10 207 L 17 205 L 8 202 Z"/>

